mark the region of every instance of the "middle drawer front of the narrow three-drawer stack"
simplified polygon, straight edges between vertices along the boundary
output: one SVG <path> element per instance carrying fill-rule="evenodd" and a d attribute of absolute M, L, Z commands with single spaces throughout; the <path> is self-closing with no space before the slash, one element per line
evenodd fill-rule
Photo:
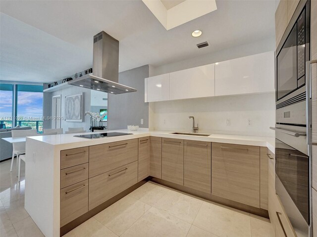
<path fill-rule="evenodd" d="M 88 163 L 60 170 L 60 188 L 88 179 Z"/>

